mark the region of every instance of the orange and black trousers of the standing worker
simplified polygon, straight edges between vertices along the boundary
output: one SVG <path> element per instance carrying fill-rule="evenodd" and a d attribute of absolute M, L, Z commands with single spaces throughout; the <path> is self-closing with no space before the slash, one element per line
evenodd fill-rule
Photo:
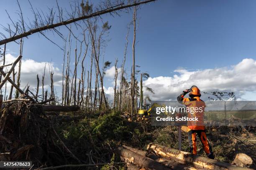
<path fill-rule="evenodd" d="M 190 152 L 194 155 L 197 155 L 197 135 L 200 138 L 200 141 L 204 147 L 205 153 L 212 153 L 212 147 L 207 141 L 205 130 L 189 130 L 188 140 Z"/>

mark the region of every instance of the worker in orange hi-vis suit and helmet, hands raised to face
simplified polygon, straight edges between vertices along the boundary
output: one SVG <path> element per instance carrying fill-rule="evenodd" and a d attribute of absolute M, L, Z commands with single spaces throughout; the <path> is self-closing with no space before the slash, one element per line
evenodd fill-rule
<path fill-rule="evenodd" d="M 189 98 L 184 96 L 189 93 Z M 177 100 L 185 105 L 188 111 L 188 118 L 197 118 L 197 121 L 188 121 L 188 140 L 190 152 L 197 155 L 197 135 L 204 147 L 207 157 L 214 159 L 212 148 L 210 143 L 207 141 L 205 126 L 203 124 L 205 102 L 200 99 L 201 93 L 197 86 L 192 86 L 190 89 L 184 90 L 182 94 L 177 97 Z"/>

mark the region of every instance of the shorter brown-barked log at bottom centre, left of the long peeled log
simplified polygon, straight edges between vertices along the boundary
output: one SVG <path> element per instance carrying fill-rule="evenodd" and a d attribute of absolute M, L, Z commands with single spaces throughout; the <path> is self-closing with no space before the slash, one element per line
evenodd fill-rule
<path fill-rule="evenodd" d="M 135 153 L 131 150 L 125 149 L 124 147 L 119 147 L 115 150 L 121 158 L 127 163 L 132 163 L 138 165 L 142 168 L 149 168 L 153 170 L 171 170 L 171 168 L 162 165 L 161 163 L 156 162 L 150 158 L 144 157 L 138 153 Z"/>

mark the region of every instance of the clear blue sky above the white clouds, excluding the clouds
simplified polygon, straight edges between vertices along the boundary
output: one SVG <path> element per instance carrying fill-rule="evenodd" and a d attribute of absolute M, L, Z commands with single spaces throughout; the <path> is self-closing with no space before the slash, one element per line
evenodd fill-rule
<path fill-rule="evenodd" d="M 97 1 L 92 1 L 97 3 Z M 54 0 L 33 0 L 32 5 L 46 10 L 56 6 Z M 29 3 L 20 1 L 25 18 L 32 18 Z M 59 5 L 69 9 L 68 0 L 59 0 Z M 18 5 L 15 0 L 0 6 L 14 18 Z M 139 26 L 136 42 L 136 65 L 151 77 L 173 76 L 177 68 L 188 71 L 230 68 L 245 58 L 256 59 L 256 1 L 255 0 L 157 0 L 142 5 L 138 11 Z M 106 48 L 105 60 L 121 63 L 125 44 L 127 24 L 132 13 L 120 13 L 112 17 L 102 16 L 112 26 Z M 10 23 L 2 12 L 3 25 Z M 67 34 L 64 27 L 61 32 Z M 2 32 L 2 29 L 0 29 Z M 75 31 L 76 32 L 76 31 Z M 79 32 L 77 32 L 78 34 Z M 131 30 L 132 33 L 132 30 Z M 63 45 L 58 36 L 48 34 L 54 42 Z M 53 62 L 61 69 L 63 52 L 38 34 L 25 39 L 23 56 L 38 62 Z M 131 43 L 129 36 L 127 70 L 131 70 Z M 7 48 L 18 52 L 19 46 L 9 43 Z M 119 63 L 119 65 L 120 65 Z M 107 85 L 107 87 L 110 84 Z"/>

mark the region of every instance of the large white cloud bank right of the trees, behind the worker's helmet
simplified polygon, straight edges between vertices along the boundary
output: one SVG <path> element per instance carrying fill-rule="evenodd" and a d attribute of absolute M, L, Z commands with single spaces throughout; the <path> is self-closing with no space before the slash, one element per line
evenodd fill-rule
<path fill-rule="evenodd" d="M 176 100 L 182 90 L 197 85 L 201 91 L 226 90 L 236 92 L 244 100 L 245 92 L 256 90 L 256 60 L 243 59 L 237 65 L 214 69 L 188 71 L 175 70 L 172 77 L 149 77 L 143 86 L 151 87 L 155 94 L 149 94 L 152 100 Z"/>

